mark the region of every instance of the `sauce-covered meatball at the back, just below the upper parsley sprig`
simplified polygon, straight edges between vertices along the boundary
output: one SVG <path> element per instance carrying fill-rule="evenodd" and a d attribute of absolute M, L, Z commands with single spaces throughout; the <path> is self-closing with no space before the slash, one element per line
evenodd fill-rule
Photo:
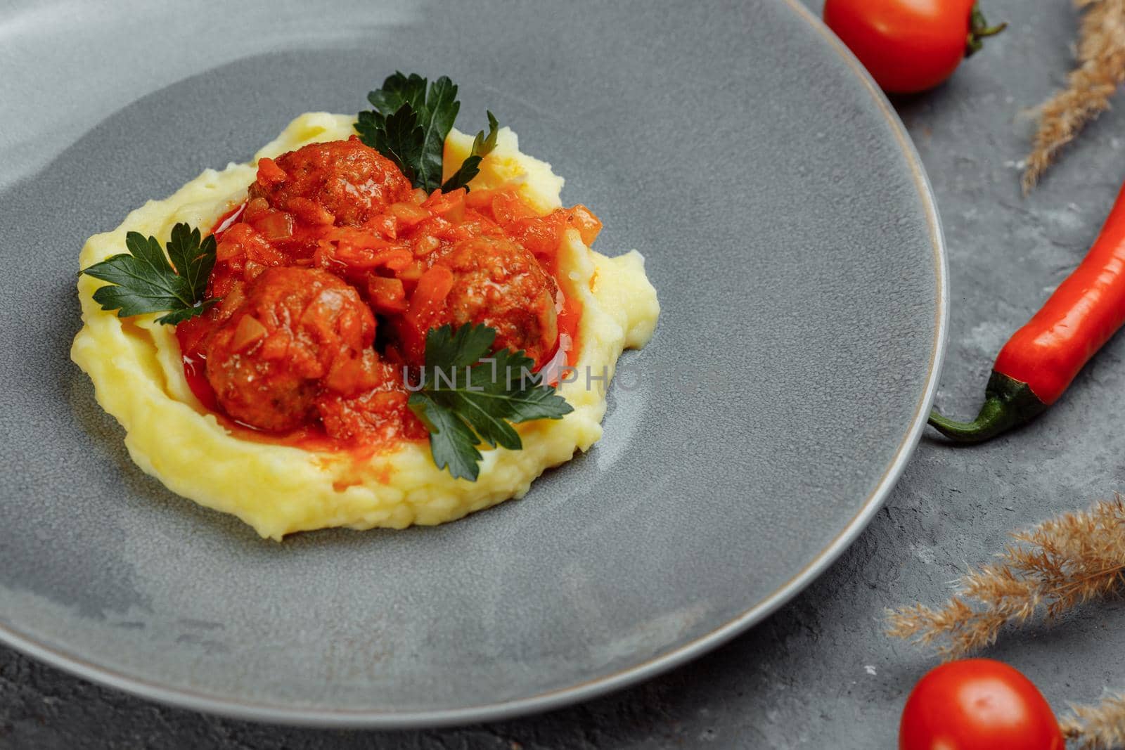
<path fill-rule="evenodd" d="M 281 154 L 260 168 L 250 186 L 251 199 L 264 198 L 307 223 L 336 226 L 360 226 L 410 192 L 394 162 L 356 137 Z"/>

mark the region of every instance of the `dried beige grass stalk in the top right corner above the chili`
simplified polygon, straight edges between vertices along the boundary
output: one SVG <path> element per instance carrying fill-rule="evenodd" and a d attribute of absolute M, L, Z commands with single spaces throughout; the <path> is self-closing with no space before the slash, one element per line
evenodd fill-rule
<path fill-rule="evenodd" d="M 1027 156 L 1024 191 L 1035 187 L 1059 151 L 1098 115 L 1125 82 L 1125 0 L 1074 0 L 1084 10 L 1078 63 L 1066 88 L 1040 109 L 1038 132 Z"/>

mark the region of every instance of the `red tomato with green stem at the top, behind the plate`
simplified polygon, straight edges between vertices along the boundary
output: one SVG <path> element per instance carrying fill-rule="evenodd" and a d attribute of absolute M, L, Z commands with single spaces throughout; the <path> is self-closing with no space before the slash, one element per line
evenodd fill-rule
<path fill-rule="evenodd" d="M 974 0 L 827 0 L 825 22 L 889 93 L 934 88 L 1005 27 Z"/>

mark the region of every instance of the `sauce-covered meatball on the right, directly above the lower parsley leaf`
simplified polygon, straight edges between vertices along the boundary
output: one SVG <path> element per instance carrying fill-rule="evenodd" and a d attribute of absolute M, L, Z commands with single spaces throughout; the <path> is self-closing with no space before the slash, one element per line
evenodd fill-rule
<path fill-rule="evenodd" d="M 537 364 L 542 364 L 555 351 L 558 284 L 522 245 L 496 237 L 474 237 L 431 257 L 434 266 L 452 272 L 444 305 L 429 319 L 405 315 L 399 325 L 483 323 L 496 329 L 496 350 L 522 349 Z M 403 340 L 424 342 L 425 331 L 410 331 Z M 404 352 L 411 364 L 421 364 L 424 353 L 418 345 L 407 345 Z"/>

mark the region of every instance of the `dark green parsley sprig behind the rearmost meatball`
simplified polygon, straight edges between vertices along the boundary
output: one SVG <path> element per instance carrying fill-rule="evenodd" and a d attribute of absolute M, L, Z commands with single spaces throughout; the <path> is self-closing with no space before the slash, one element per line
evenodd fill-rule
<path fill-rule="evenodd" d="M 446 136 L 453 127 L 461 102 L 457 84 L 442 75 L 433 83 L 417 73 L 396 72 L 382 88 L 367 94 L 375 107 L 359 114 L 359 138 L 393 161 L 415 188 L 449 192 L 467 188 L 480 171 L 480 160 L 496 146 L 500 124 L 488 112 L 488 134 L 482 130 L 472 142 L 470 155 L 444 184 L 441 182 Z"/>

